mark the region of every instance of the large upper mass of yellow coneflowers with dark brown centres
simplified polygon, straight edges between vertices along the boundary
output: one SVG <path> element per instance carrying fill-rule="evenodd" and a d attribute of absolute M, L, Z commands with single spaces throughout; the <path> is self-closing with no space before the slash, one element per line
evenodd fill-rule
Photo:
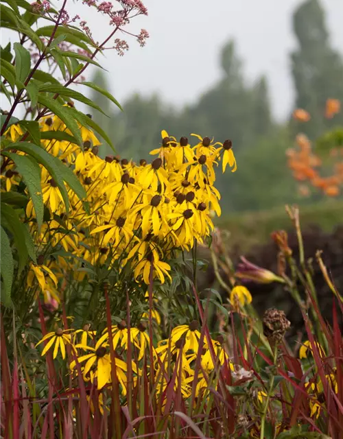
<path fill-rule="evenodd" d="M 56 116 L 41 119 L 40 130 L 70 134 Z M 42 140 L 47 152 L 73 169 L 87 196 L 85 203 L 81 202 L 69 189 L 71 209 L 65 215 L 60 189 L 42 167 L 43 202 L 50 219 L 44 222 L 40 233 L 31 200 L 26 209 L 38 249 L 43 254 L 47 246 L 62 246 L 72 252 L 78 280 L 85 275 L 77 271 L 82 259 L 91 265 L 116 264 L 120 270 L 129 264 L 136 281 L 146 284 L 153 267 L 153 278 L 164 283 L 166 277 L 171 278 L 171 254 L 178 249 L 191 249 L 195 241 L 202 243 L 213 230 L 211 214 L 221 213 L 214 167 L 222 161 L 223 171 L 227 165 L 235 171 L 231 141 L 213 143 L 209 137 L 202 139 L 192 134 L 198 143 L 191 147 L 186 137 L 176 141 L 162 131 L 161 147 L 151 152 L 157 158 L 150 164 L 142 159 L 137 165 L 126 159 L 119 161 L 115 156 L 100 158 L 100 142 L 95 134 L 82 126 L 80 130 L 83 150 L 69 141 Z M 6 134 L 8 139 L 17 141 L 23 131 L 12 125 Z M 21 176 L 13 165 L 6 169 L 5 188 L 9 191 L 19 184 Z M 70 272 L 70 263 L 67 266 L 63 257 L 46 264 L 42 257 L 38 264 L 31 264 L 28 286 L 38 284 L 45 298 L 58 301 L 56 287 L 64 270 Z"/>

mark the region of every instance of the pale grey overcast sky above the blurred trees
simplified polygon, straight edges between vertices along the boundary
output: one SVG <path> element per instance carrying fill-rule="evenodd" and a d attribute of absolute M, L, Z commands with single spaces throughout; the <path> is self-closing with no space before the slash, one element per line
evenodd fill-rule
<path fill-rule="evenodd" d="M 80 12 L 79 0 L 74 10 Z M 119 58 L 106 53 L 103 64 L 117 99 L 134 91 L 161 93 L 182 106 L 192 102 L 220 77 L 220 47 L 235 38 L 248 80 L 268 75 L 272 106 L 277 117 L 287 115 L 292 104 L 289 51 L 294 47 L 292 11 L 300 0 L 143 0 L 149 16 L 133 27 L 150 33 L 143 49 L 128 40 L 130 51 Z M 343 1 L 322 0 L 327 11 L 332 42 L 343 53 Z M 84 9 L 85 8 L 85 9 Z M 84 18 L 104 35 L 106 22 L 88 7 Z M 107 28 L 108 29 L 108 28 Z M 193 61 L 193 62 L 192 62 Z M 195 61 L 195 62 L 194 62 Z"/>

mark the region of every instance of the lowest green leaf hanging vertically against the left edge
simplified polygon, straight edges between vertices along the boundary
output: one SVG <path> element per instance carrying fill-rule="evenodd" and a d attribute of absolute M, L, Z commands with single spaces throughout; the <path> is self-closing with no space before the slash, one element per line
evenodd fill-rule
<path fill-rule="evenodd" d="M 2 290 L 0 292 L 0 300 L 5 307 L 11 305 L 11 291 L 13 283 L 14 263 L 13 255 L 5 230 L 0 226 L 0 274 L 2 276 Z"/>

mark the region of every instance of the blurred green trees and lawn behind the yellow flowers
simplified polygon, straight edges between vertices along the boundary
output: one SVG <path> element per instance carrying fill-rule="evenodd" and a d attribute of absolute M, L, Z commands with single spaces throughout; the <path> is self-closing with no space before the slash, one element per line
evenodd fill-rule
<path fill-rule="evenodd" d="M 294 146 L 298 132 L 312 141 L 331 130 L 340 132 L 343 112 L 325 119 L 324 108 L 329 98 L 343 102 L 343 58 L 331 46 L 319 0 L 306 0 L 294 11 L 293 31 L 296 49 L 289 54 L 289 66 L 296 91 L 294 109 L 307 110 L 311 115 L 308 123 L 295 121 L 291 115 L 287 121 L 275 120 L 268 79 L 261 76 L 252 83 L 246 79 L 244 62 L 233 40 L 222 47 L 218 60 L 222 77 L 193 104 L 175 108 L 158 95 L 136 93 L 122 103 L 124 111 L 119 112 L 94 94 L 93 101 L 109 115 L 94 115 L 95 121 L 110 134 L 121 158 L 136 161 L 147 158 L 153 145 L 161 143 L 162 129 L 176 137 L 190 138 L 193 131 L 217 141 L 231 139 L 238 170 L 235 174 L 218 174 L 217 187 L 222 193 L 220 225 L 235 237 L 249 241 L 251 235 L 268 236 L 274 224 L 280 228 L 281 218 L 287 223 L 283 206 L 290 203 L 303 206 L 300 212 L 309 222 L 331 227 L 331 219 L 333 224 L 340 222 L 336 201 L 323 202 L 323 195 L 316 191 L 307 198 L 301 196 L 287 169 L 285 151 Z M 93 78 L 104 88 L 108 80 L 102 71 Z M 109 148 L 104 148 L 106 153 L 111 154 Z M 342 206 L 337 206 L 338 213 Z"/>

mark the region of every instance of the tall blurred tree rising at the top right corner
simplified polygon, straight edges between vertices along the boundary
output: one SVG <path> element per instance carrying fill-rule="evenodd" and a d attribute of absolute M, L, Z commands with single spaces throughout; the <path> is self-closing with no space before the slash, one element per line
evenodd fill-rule
<path fill-rule="evenodd" d="M 331 47 L 325 12 L 319 0 L 307 0 L 294 12 L 293 29 L 298 42 L 291 54 L 296 88 L 296 108 L 311 115 L 306 124 L 292 122 L 293 132 L 306 132 L 316 138 L 327 128 L 343 123 L 343 115 L 324 119 L 328 98 L 343 100 L 343 62 Z"/>

